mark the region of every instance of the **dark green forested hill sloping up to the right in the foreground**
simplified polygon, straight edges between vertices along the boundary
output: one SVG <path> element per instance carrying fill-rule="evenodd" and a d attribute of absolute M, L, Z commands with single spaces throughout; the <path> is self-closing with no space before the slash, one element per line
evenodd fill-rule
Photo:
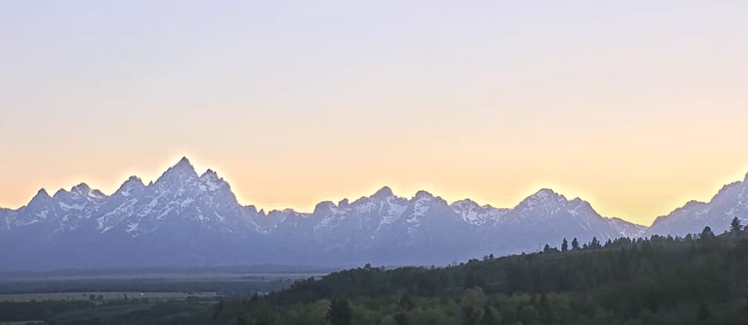
<path fill-rule="evenodd" d="M 738 222 L 737 220 L 735 220 Z M 748 232 L 621 238 L 444 268 L 361 267 L 242 302 L 219 324 L 742 324 Z"/>

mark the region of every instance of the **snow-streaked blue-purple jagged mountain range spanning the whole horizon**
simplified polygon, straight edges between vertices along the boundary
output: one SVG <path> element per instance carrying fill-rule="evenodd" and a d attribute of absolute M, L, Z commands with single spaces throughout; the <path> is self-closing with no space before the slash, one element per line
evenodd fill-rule
<path fill-rule="evenodd" d="M 349 202 L 320 202 L 312 213 L 240 205 L 212 170 L 187 158 L 145 185 L 133 176 L 114 194 L 81 184 L 28 205 L 0 209 L 0 270 L 218 266 L 238 264 L 448 264 L 535 251 L 539 245 L 650 235 L 685 235 L 748 217 L 748 182 L 726 185 L 711 202 L 688 202 L 652 226 L 603 217 L 583 199 L 549 189 L 514 208 L 449 203 L 390 188 Z"/>

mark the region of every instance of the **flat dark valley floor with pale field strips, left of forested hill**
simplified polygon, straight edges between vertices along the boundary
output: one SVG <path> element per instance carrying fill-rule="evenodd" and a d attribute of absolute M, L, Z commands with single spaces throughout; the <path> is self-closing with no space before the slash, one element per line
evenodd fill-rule
<path fill-rule="evenodd" d="M 277 291 L 325 273 L 245 267 L 1 273 L 0 325 L 127 318 L 153 324 L 203 317 L 211 315 L 220 297 Z"/>

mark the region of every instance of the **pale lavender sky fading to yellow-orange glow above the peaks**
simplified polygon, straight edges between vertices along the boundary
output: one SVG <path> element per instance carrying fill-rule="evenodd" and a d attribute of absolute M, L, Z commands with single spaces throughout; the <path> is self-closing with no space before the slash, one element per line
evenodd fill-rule
<path fill-rule="evenodd" d="M 540 188 L 649 225 L 748 173 L 747 1 L 0 1 L 0 206 L 182 156 L 239 202 Z"/>

